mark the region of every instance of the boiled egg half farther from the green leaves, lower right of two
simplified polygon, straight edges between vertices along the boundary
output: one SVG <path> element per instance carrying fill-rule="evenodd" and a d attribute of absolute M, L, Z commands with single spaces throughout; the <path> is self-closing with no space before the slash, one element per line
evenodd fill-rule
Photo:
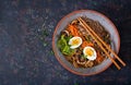
<path fill-rule="evenodd" d="M 83 53 L 88 60 L 95 60 L 97 57 L 95 49 L 90 46 L 83 49 Z"/>

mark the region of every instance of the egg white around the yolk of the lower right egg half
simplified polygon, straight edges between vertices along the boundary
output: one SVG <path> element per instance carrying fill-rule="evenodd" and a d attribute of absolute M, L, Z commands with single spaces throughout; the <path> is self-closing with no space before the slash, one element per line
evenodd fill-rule
<path fill-rule="evenodd" d="M 91 50 L 93 51 L 93 54 L 92 54 L 92 56 L 87 56 L 87 53 L 86 53 L 86 50 L 87 50 L 87 49 L 91 49 Z M 88 60 L 95 60 L 96 57 L 97 57 L 95 49 L 94 49 L 93 47 L 90 47 L 90 46 L 87 46 L 87 47 L 85 47 L 85 48 L 83 49 L 83 53 L 84 53 L 84 56 L 85 56 Z"/>

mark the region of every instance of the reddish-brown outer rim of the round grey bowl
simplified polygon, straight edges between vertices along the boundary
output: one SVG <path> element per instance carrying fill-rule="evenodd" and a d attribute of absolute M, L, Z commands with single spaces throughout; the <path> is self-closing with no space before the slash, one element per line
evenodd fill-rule
<path fill-rule="evenodd" d="M 55 57 L 57 58 L 57 60 L 60 62 L 60 64 L 61 64 L 66 70 L 68 70 L 69 72 L 71 72 L 71 73 L 73 73 L 73 74 L 82 75 L 82 76 L 88 76 L 88 75 L 95 75 L 95 74 L 102 73 L 102 72 L 104 72 L 105 70 L 107 70 L 107 69 L 111 65 L 112 62 L 110 62 L 108 65 L 106 65 L 105 68 L 103 68 L 100 71 L 97 71 L 97 72 L 94 72 L 94 73 L 83 74 L 83 73 L 73 71 L 73 70 L 71 70 L 70 68 L 68 68 L 68 66 L 60 60 L 59 54 L 57 53 L 57 50 L 56 50 L 56 48 L 55 48 L 55 35 L 57 34 L 57 31 L 59 29 L 59 26 L 60 26 L 60 24 L 62 23 L 62 21 L 63 21 L 64 19 L 71 16 L 71 15 L 73 15 L 73 14 L 75 14 L 75 13 L 87 12 L 87 11 L 91 12 L 91 13 L 98 14 L 98 15 L 103 16 L 104 19 L 106 19 L 106 20 L 108 21 L 109 25 L 112 26 L 112 28 L 115 29 L 116 35 L 118 36 L 118 38 L 117 38 L 117 39 L 118 39 L 118 48 L 117 48 L 118 51 L 117 51 L 117 53 L 118 53 L 119 50 L 120 50 L 120 35 L 119 35 L 119 33 L 118 33 L 117 27 L 115 26 L 115 24 L 114 24 L 106 15 L 102 14 L 100 12 L 97 12 L 97 11 L 94 11 L 94 10 L 76 10 L 76 11 L 73 11 L 73 12 L 67 14 L 66 16 L 63 16 L 63 17 L 58 22 L 58 24 L 57 24 L 57 26 L 56 26 L 56 28 L 55 28 L 53 35 L 52 35 L 52 50 L 53 50 L 53 52 L 55 52 Z"/>

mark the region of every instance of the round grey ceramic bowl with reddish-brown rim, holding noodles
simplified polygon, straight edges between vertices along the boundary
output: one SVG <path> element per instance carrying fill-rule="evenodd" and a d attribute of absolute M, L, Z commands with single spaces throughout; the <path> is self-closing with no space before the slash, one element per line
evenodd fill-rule
<path fill-rule="evenodd" d="M 79 17 L 79 16 L 87 16 L 94 21 L 98 21 L 110 34 L 111 37 L 111 48 L 118 52 L 119 48 L 120 48 L 120 37 L 118 34 L 118 31 L 116 28 L 116 26 L 114 25 L 114 23 L 106 17 L 105 15 L 103 15 L 102 13 L 98 13 L 96 11 L 92 11 L 92 10 L 79 10 L 79 11 L 74 11 L 68 15 L 66 15 L 64 17 L 61 19 L 61 21 L 58 23 L 55 32 L 53 32 L 53 36 L 52 36 L 52 49 L 55 52 L 55 56 L 57 58 L 57 60 L 60 62 L 60 64 L 66 68 L 68 71 L 74 73 L 74 74 L 79 74 L 79 75 L 93 75 L 93 74 L 97 74 L 100 73 L 103 71 L 105 71 L 107 68 L 109 68 L 109 65 L 112 63 L 110 61 L 110 59 L 106 59 L 104 60 L 100 64 L 93 66 L 93 68 L 87 68 L 87 69 L 76 69 L 74 68 L 69 61 L 67 61 L 63 57 L 63 54 L 61 53 L 61 51 L 58 49 L 57 47 L 57 40 L 58 40 L 58 36 L 60 35 L 60 32 L 74 19 Z"/>

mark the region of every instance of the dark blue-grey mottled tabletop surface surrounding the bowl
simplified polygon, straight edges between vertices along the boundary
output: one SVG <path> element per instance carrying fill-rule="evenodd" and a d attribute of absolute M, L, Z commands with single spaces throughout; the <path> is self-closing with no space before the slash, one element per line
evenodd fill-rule
<path fill-rule="evenodd" d="M 63 69 L 51 49 L 57 23 L 68 13 L 91 9 L 117 26 L 127 63 L 93 76 Z M 131 84 L 131 0 L 0 0 L 0 85 L 129 85 Z"/>

